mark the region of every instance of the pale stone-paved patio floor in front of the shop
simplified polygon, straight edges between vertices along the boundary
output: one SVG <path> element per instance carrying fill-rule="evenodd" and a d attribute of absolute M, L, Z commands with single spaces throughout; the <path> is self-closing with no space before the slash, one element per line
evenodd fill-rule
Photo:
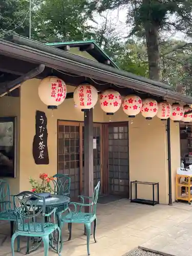
<path fill-rule="evenodd" d="M 92 256 L 122 256 L 138 246 L 164 255 L 192 255 L 192 205 L 176 203 L 173 206 L 149 206 L 123 199 L 110 204 L 98 204 L 97 209 L 98 243 L 94 243 L 91 237 Z M 64 242 L 61 255 L 87 255 L 83 229 L 82 224 L 72 226 L 72 240 Z M 67 225 L 63 227 L 62 234 L 67 241 Z M 0 222 L 0 256 L 12 256 L 9 236 L 9 223 Z M 26 238 L 22 238 L 21 247 L 21 252 L 15 252 L 15 256 L 25 255 Z M 43 246 L 30 255 L 43 256 Z M 54 255 L 57 254 L 50 249 L 49 256 Z"/>

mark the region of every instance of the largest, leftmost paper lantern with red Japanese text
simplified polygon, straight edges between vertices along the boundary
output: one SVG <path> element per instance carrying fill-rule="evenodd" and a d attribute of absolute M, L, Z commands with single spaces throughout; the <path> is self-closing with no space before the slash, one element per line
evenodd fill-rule
<path fill-rule="evenodd" d="M 39 98 L 48 109 L 57 109 L 66 98 L 67 89 L 63 80 L 56 76 L 48 76 L 41 80 L 38 87 Z"/>

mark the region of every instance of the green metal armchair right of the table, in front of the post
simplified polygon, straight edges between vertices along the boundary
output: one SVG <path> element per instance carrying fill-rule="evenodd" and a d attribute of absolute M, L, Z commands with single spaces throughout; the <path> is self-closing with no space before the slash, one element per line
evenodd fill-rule
<path fill-rule="evenodd" d="M 63 216 L 61 218 L 61 224 L 69 223 L 69 240 L 71 240 L 71 232 L 72 232 L 72 223 L 82 223 L 86 226 L 87 231 L 87 251 L 88 255 L 90 255 L 90 235 L 91 235 L 91 224 L 94 222 L 94 229 L 93 229 L 93 238 L 95 240 L 95 243 L 97 242 L 95 239 L 95 231 L 96 231 L 96 225 L 97 225 L 97 218 L 96 218 L 96 206 L 97 206 L 97 200 L 98 200 L 98 194 L 99 194 L 99 187 L 100 187 L 100 181 L 97 183 L 97 186 L 94 188 L 94 193 L 92 197 L 86 197 L 86 196 L 79 196 L 79 198 L 82 200 L 82 203 L 76 203 L 76 202 L 70 202 L 71 205 L 74 206 L 74 210 L 70 210 L 69 208 L 69 214 L 66 216 Z M 91 203 L 84 203 L 84 200 L 92 201 Z M 90 212 L 83 212 L 82 208 L 90 206 L 91 211 Z"/>

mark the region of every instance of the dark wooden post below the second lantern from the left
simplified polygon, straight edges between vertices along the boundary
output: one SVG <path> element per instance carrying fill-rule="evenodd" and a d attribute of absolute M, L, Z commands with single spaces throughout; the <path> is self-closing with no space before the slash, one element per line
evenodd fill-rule
<path fill-rule="evenodd" d="M 84 195 L 93 195 L 93 109 L 84 112 Z M 90 207 L 85 211 L 90 212 Z M 86 228 L 84 231 L 86 234 Z"/>

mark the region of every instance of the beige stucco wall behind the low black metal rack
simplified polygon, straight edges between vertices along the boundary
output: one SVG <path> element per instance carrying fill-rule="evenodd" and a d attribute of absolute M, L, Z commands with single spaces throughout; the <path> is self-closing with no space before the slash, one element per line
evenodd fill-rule
<path fill-rule="evenodd" d="M 109 117 L 105 116 L 104 121 L 108 119 Z M 168 202 L 166 122 L 162 122 L 157 117 L 148 121 L 141 114 L 130 119 L 122 109 L 111 117 L 111 122 L 128 119 L 130 181 L 159 182 L 160 203 L 166 204 Z M 152 200 L 152 186 L 138 185 L 138 198 Z"/>

